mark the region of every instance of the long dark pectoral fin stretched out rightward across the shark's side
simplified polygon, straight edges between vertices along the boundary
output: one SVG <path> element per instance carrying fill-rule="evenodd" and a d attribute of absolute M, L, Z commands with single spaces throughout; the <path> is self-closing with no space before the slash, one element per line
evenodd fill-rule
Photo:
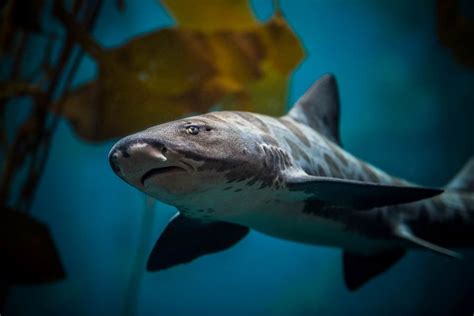
<path fill-rule="evenodd" d="M 309 175 L 291 179 L 286 185 L 290 191 L 311 194 L 310 198 L 316 200 L 362 210 L 415 202 L 443 192 L 440 189 L 393 186 Z"/>

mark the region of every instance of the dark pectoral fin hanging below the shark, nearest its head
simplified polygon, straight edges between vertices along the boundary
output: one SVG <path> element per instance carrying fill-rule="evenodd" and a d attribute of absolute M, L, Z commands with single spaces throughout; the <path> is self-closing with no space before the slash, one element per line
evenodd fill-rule
<path fill-rule="evenodd" d="M 249 229 L 226 222 L 203 222 L 176 215 L 156 242 L 147 270 L 156 271 L 190 262 L 200 256 L 230 248 Z"/>

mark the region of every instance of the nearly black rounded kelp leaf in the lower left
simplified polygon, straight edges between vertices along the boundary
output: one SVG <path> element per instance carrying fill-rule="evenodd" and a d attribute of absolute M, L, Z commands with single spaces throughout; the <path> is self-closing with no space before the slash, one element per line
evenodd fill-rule
<path fill-rule="evenodd" d="M 0 210 L 0 277 L 12 284 L 36 284 L 65 277 L 48 228 L 30 215 Z"/>

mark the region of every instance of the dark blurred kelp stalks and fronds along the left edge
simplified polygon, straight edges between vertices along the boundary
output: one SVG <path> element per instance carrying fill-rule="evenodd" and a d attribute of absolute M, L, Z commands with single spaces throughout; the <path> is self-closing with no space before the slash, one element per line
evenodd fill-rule
<path fill-rule="evenodd" d="M 90 30 L 99 4 L 74 1 L 72 16 Z M 68 89 L 82 56 L 69 34 L 43 29 L 51 6 L 41 0 L 10 0 L 0 7 L 0 309 L 11 285 L 57 281 L 66 275 L 49 228 L 29 214 L 59 121 L 49 109 Z M 56 58 L 51 58 L 53 47 Z M 27 58 L 30 49 L 38 52 L 37 59 Z M 8 130 L 7 106 L 17 112 L 30 109 Z"/>

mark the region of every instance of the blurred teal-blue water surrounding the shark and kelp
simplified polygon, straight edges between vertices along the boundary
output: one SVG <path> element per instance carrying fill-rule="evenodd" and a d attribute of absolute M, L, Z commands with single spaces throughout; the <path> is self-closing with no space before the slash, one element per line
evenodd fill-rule
<path fill-rule="evenodd" d="M 259 19 L 272 15 L 271 1 L 251 4 Z M 342 142 L 355 156 L 419 184 L 443 186 L 474 155 L 474 72 L 439 43 L 434 1 L 280 6 L 306 53 L 291 77 L 288 108 L 331 72 L 339 84 Z M 464 9 L 474 15 L 472 5 Z M 155 1 L 127 1 L 123 12 L 105 1 L 93 34 L 114 47 L 173 23 Z M 86 57 L 74 84 L 94 76 Z M 140 271 L 137 253 L 148 256 L 175 209 L 157 202 L 150 216 L 144 195 L 110 169 L 113 143 L 91 145 L 60 122 L 31 213 L 48 224 L 67 277 L 11 288 L 6 316 L 474 313 L 473 250 L 462 251 L 463 260 L 409 252 L 349 292 L 339 249 L 252 232 L 228 251 L 159 273 L 143 269 L 132 280 L 132 271 Z M 139 251 L 145 214 L 152 231 Z"/>

